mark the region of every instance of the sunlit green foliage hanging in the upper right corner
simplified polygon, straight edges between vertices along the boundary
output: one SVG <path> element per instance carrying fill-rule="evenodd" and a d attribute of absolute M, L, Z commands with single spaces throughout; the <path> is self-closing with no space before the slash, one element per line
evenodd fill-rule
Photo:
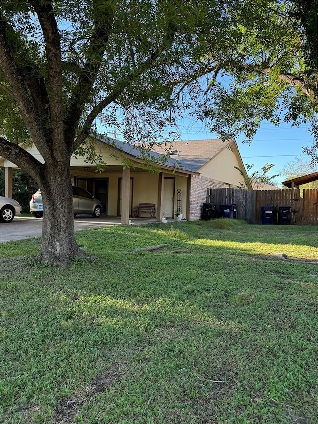
<path fill-rule="evenodd" d="M 223 54 L 215 55 L 214 34 L 207 44 L 215 70 L 199 117 L 224 138 L 240 132 L 247 142 L 264 119 L 310 122 L 316 144 L 304 152 L 317 161 L 317 1 L 224 5 L 231 24 Z"/>

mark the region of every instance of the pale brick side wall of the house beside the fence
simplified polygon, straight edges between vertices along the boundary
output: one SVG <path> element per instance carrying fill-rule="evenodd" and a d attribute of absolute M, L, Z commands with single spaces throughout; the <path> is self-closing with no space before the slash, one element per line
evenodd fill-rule
<path fill-rule="evenodd" d="M 208 188 L 223 188 L 223 182 L 204 176 L 192 175 L 190 188 L 189 221 L 201 219 L 202 204 L 207 201 Z"/>

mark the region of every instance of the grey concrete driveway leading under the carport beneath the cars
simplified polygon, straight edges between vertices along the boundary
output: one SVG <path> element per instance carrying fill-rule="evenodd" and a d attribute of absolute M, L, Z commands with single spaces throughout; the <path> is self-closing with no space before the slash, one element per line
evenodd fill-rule
<path fill-rule="evenodd" d="M 148 224 L 156 222 L 150 218 L 132 218 L 131 224 Z M 92 218 L 87 215 L 74 218 L 74 230 L 88 230 L 89 228 L 121 225 L 120 218 L 104 217 Z M 42 236 L 42 218 L 16 216 L 12 222 L 0 224 L 0 243 L 12 240 L 28 239 Z"/>

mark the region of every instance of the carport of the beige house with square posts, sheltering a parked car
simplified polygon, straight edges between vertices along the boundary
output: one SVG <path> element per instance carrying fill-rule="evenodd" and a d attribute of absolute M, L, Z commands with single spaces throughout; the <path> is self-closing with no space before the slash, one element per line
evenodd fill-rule
<path fill-rule="evenodd" d="M 128 225 L 134 207 L 140 203 L 153 203 L 157 221 L 163 215 L 174 218 L 178 208 L 181 208 L 183 218 L 188 219 L 191 176 L 198 175 L 197 172 L 182 169 L 172 158 L 160 163 L 163 155 L 155 152 L 151 152 L 151 156 L 156 172 L 150 172 L 145 167 L 144 153 L 136 146 L 102 136 L 93 141 L 96 154 L 107 164 L 106 170 L 97 172 L 96 164 L 73 155 L 70 173 L 73 185 L 86 189 L 101 200 L 104 214 Z M 34 145 L 26 150 L 44 162 Z M 17 166 L 5 158 L 0 158 L 0 166 L 5 168 L 5 195 L 12 197 L 12 169 Z M 148 216 L 141 214 L 141 218 Z"/>

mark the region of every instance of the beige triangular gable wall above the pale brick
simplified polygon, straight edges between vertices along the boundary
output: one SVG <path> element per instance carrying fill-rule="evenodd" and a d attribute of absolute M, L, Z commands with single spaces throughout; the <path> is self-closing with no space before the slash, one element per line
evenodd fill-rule
<path fill-rule="evenodd" d="M 242 168 L 241 161 L 236 154 L 229 149 L 223 149 L 215 158 L 205 164 L 200 170 L 200 174 L 207 178 L 224 181 L 225 185 L 240 188 L 242 176 L 239 170 Z"/>

